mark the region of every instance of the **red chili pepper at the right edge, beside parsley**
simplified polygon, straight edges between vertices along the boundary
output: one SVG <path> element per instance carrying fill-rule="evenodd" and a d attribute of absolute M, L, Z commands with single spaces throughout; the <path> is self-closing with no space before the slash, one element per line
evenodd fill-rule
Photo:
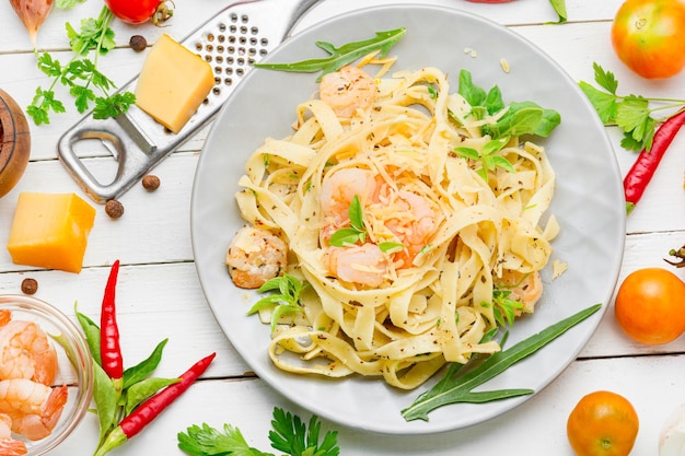
<path fill-rule="evenodd" d="M 654 132 L 652 147 L 648 151 L 643 149 L 635 161 L 628 174 L 623 180 L 624 194 L 626 196 L 626 210 L 632 211 L 638 203 L 647 185 L 652 179 L 659 162 L 671 145 L 673 138 L 685 124 L 685 109 L 669 117 Z"/>

